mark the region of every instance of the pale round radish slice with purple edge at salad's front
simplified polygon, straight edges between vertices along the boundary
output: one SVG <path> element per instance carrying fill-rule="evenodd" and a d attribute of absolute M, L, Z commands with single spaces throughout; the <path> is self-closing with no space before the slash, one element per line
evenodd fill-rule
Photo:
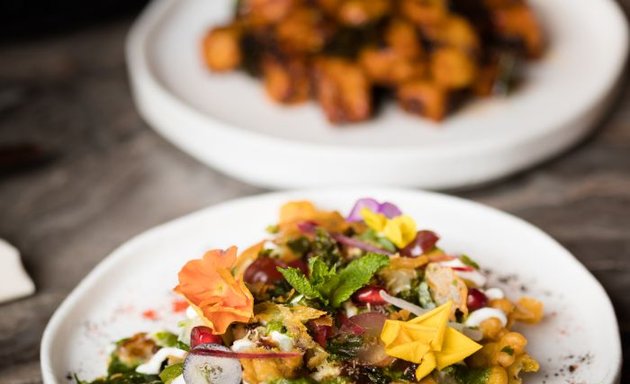
<path fill-rule="evenodd" d="M 197 351 L 231 352 L 219 344 L 200 344 L 184 360 L 184 380 L 186 384 L 240 384 L 243 368 L 233 357 L 217 357 L 195 353 Z"/>

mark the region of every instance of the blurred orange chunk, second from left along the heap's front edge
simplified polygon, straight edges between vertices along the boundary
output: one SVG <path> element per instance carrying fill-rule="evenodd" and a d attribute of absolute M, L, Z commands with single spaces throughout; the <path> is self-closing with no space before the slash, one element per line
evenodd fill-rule
<path fill-rule="evenodd" d="M 273 100 L 295 104 L 308 100 L 311 94 L 306 59 L 267 55 L 262 62 L 265 90 Z"/>

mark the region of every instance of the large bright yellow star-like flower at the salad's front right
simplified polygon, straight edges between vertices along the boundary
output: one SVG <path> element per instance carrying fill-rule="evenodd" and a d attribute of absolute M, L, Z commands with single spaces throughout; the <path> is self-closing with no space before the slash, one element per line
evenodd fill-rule
<path fill-rule="evenodd" d="M 386 320 L 381 331 L 385 353 L 420 364 L 421 380 L 435 368 L 443 369 L 477 352 L 481 345 L 448 327 L 451 301 L 409 321 Z"/>

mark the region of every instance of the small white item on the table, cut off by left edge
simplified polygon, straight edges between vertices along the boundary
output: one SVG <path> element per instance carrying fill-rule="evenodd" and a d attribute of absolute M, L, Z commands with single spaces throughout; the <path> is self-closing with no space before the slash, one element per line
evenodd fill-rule
<path fill-rule="evenodd" d="M 20 252 L 0 239 L 0 303 L 32 295 L 35 285 L 26 274 Z"/>

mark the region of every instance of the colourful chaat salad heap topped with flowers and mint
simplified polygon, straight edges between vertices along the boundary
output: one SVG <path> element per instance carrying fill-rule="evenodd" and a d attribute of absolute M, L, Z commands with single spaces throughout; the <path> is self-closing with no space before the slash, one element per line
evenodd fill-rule
<path fill-rule="evenodd" d="M 286 203 L 266 239 L 179 271 L 179 333 L 118 341 L 107 374 L 78 384 L 519 384 L 543 304 L 511 301 L 466 255 L 394 204 L 344 217 Z"/>

